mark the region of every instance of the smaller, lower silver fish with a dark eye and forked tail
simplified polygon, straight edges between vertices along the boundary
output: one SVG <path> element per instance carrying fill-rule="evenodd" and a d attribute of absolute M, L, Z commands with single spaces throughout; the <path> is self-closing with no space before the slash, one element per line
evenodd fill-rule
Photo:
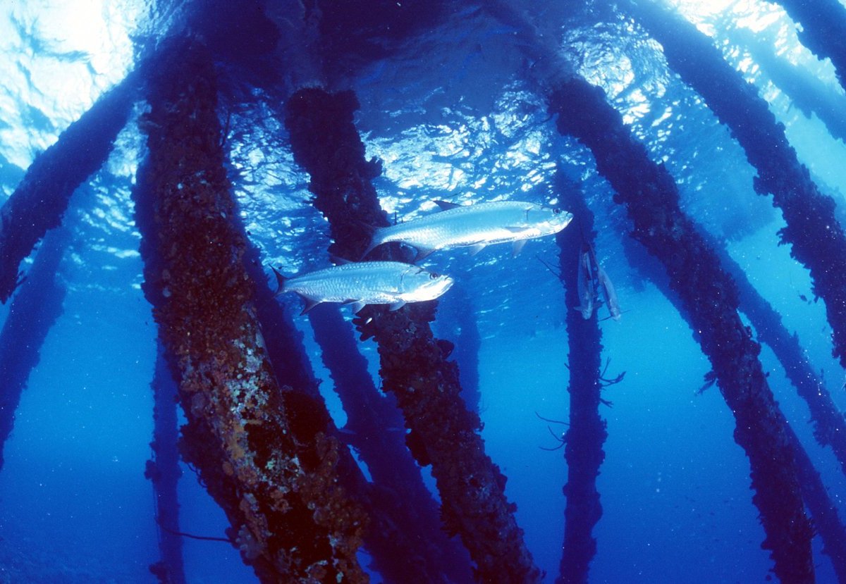
<path fill-rule="evenodd" d="M 325 302 L 352 304 L 356 313 L 365 304 L 390 304 L 391 310 L 396 310 L 405 303 L 434 300 L 453 285 L 449 276 L 391 261 L 333 265 L 292 278 L 275 268 L 273 273 L 279 285 L 277 296 L 296 292 L 305 299 L 300 314 Z"/>

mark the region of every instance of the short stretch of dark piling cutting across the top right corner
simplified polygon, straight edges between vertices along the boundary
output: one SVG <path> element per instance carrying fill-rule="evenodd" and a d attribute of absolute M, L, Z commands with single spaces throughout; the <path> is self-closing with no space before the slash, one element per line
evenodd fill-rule
<path fill-rule="evenodd" d="M 770 0 L 799 25 L 799 41 L 821 59 L 832 60 L 846 89 L 846 8 L 838 0 Z"/>

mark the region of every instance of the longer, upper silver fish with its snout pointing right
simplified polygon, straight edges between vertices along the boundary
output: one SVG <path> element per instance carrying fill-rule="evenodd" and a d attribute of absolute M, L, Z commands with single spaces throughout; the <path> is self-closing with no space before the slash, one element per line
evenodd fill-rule
<path fill-rule="evenodd" d="M 490 243 L 504 242 L 514 242 L 516 255 L 527 239 L 558 233 L 573 220 L 567 211 L 520 201 L 475 205 L 436 203 L 442 209 L 439 213 L 376 229 L 365 255 L 388 242 L 402 242 L 416 248 L 416 259 L 443 248 L 471 247 L 475 254 Z"/>

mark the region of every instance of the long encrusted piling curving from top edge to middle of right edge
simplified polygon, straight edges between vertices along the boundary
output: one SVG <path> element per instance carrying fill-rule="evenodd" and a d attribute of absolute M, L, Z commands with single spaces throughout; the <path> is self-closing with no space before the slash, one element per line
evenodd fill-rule
<path fill-rule="evenodd" d="M 816 5 L 816 3 L 815 3 Z M 754 85 L 722 59 L 711 39 L 678 14 L 654 3 L 621 3 L 663 46 L 667 63 L 704 98 L 731 130 L 758 171 L 755 190 L 772 194 L 787 224 L 782 243 L 810 270 L 814 293 L 826 303 L 833 354 L 846 367 L 846 233 L 834 201 L 821 194 Z M 843 8 L 841 8 L 843 10 Z"/>

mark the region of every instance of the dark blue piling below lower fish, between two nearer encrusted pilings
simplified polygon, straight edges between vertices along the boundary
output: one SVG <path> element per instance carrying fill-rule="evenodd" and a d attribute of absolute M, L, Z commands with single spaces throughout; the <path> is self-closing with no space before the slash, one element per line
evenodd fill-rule
<path fill-rule="evenodd" d="M 442 531 L 437 502 L 405 447 L 403 417 L 393 397 L 383 396 L 373 384 L 352 325 L 337 306 L 328 304 L 311 310 L 309 321 L 347 414 L 341 437 L 358 452 L 372 478 L 365 548 L 376 567 L 393 582 L 471 581 L 470 558 Z M 376 530 L 380 541 L 372 538 Z"/>

